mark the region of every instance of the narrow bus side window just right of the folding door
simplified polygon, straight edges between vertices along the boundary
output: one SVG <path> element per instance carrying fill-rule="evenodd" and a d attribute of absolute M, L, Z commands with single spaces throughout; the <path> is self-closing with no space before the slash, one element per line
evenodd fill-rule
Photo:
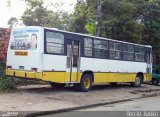
<path fill-rule="evenodd" d="M 92 56 L 92 39 L 85 38 L 84 39 L 84 55 L 85 56 Z"/>

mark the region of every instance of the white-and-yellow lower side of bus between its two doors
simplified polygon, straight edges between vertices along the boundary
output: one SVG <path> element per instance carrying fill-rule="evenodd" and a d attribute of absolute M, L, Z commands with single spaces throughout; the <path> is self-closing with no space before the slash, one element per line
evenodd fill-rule
<path fill-rule="evenodd" d="M 93 71 L 95 83 L 135 82 L 135 77 L 139 72 L 144 74 L 144 81 L 150 80 L 146 77 L 145 62 L 82 57 L 80 70 L 83 72 L 87 70 Z M 80 82 L 80 80 L 79 78 L 78 82 Z"/>

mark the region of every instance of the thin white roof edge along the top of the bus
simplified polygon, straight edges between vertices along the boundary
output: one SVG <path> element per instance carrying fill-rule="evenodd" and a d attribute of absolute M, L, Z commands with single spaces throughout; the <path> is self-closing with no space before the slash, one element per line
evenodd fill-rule
<path fill-rule="evenodd" d="M 27 28 L 27 27 L 29 27 L 29 28 L 43 28 L 43 29 L 60 31 L 60 32 L 64 32 L 64 33 L 74 34 L 74 35 L 81 35 L 81 36 L 85 36 L 85 37 L 91 37 L 91 38 L 97 38 L 97 39 L 103 39 L 103 40 L 109 40 L 109 41 L 114 41 L 114 42 L 119 42 L 119 43 L 132 44 L 132 45 L 144 46 L 144 47 L 152 48 L 152 46 L 150 46 L 150 45 L 141 45 L 141 44 L 125 42 L 125 41 L 119 41 L 119 40 L 114 40 L 114 39 L 109 39 L 109 38 L 104 38 L 104 37 L 91 36 L 91 35 L 88 35 L 88 34 L 69 32 L 69 31 L 65 31 L 65 30 L 59 30 L 57 28 L 48 28 L 48 27 L 40 27 L 40 26 L 26 26 L 26 27 L 22 27 L 22 28 Z"/>

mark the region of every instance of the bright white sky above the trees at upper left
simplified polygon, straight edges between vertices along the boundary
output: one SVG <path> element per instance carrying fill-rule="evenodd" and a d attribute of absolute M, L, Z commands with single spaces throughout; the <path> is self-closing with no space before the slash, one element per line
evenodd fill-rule
<path fill-rule="evenodd" d="M 10 0 L 10 7 L 7 6 L 7 0 L 0 0 L 0 27 L 8 27 L 7 22 L 11 17 L 16 17 L 20 19 L 23 12 L 26 9 L 26 4 L 24 0 Z M 50 3 L 62 3 L 61 7 L 58 7 L 60 10 L 65 10 L 68 12 L 73 11 L 74 6 L 77 0 L 44 0 L 44 5 L 47 6 L 49 10 L 57 10 L 51 6 Z"/>

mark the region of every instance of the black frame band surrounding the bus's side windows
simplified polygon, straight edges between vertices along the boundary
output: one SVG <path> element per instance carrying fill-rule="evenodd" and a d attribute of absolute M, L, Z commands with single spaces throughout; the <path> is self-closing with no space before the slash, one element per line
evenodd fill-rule
<path fill-rule="evenodd" d="M 63 53 L 49 53 L 49 52 L 47 52 L 47 38 L 46 38 L 46 33 L 47 32 L 59 33 L 59 34 L 62 34 L 64 36 L 64 44 L 63 44 L 64 51 L 63 51 Z M 84 36 L 83 35 L 76 35 L 76 34 L 71 34 L 71 33 L 61 32 L 61 31 L 56 31 L 56 30 L 50 30 L 50 29 L 44 29 L 44 44 L 43 44 L 44 54 L 66 56 L 67 55 L 66 43 L 67 43 L 68 39 L 70 39 L 70 38 L 72 39 L 73 35 L 75 35 L 75 38 L 73 40 L 79 40 L 80 41 L 81 57 L 146 63 L 146 59 L 145 59 L 146 51 L 147 50 L 152 51 L 152 48 L 141 46 L 141 45 L 119 42 L 119 41 L 114 41 L 114 40 L 107 40 L 107 39 L 105 40 L 103 38 L 96 38 L 96 37 L 90 37 L 90 36 L 85 36 L 85 35 Z M 77 37 L 78 37 L 78 39 L 77 39 Z M 89 39 L 92 40 L 92 47 L 91 47 L 92 48 L 92 56 L 86 56 L 85 55 L 85 38 L 89 38 Z M 106 41 L 108 43 L 108 49 L 107 49 L 108 55 L 107 55 L 107 57 L 95 57 L 95 55 L 94 55 L 95 54 L 95 52 L 94 52 L 94 40 Z M 121 50 L 121 58 L 120 59 L 110 58 L 110 49 L 109 49 L 110 48 L 110 42 L 121 44 L 122 50 Z M 133 48 L 134 48 L 134 53 L 133 53 L 134 54 L 134 60 L 124 60 L 123 59 L 123 56 L 124 56 L 123 45 L 132 45 L 133 46 Z M 136 57 L 135 56 L 136 55 L 135 54 L 135 48 L 136 47 L 144 49 L 144 60 L 143 61 L 139 61 L 139 60 L 135 59 L 135 57 Z"/>

